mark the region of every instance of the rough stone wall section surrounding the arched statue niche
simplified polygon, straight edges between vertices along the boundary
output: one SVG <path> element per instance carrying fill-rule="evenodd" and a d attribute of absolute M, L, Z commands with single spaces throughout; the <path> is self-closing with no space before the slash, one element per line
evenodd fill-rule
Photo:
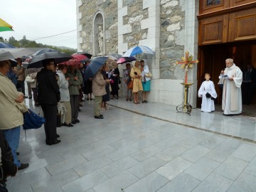
<path fill-rule="evenodd" d="M 82 26 L 80 49 L 93 53 L 93 19 L 95 13 L 99 10 L 104 18 L 105 53 L 106 55 L 117 53 L 117 0 L 82 1 L 82 5 L 79 7 L 79 11 L 82 14 L 80 18 L 80 25 Z"/>

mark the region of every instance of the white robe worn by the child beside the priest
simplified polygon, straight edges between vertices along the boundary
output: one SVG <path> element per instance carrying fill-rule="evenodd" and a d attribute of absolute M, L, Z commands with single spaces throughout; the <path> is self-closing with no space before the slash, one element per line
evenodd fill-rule
<path fill-rule="evenodd" d="M 215 111 L 214 101 L 211 98 L 206 97 L 206 93 L 209 93 L 213 98 L 217 97 L 217 93 L 214 88 L 214 84 L 211 80 L 206 80 L 202 83 L 198 90 L 198 97 L 202 97 L 202 112 L 213 112 Z"/>

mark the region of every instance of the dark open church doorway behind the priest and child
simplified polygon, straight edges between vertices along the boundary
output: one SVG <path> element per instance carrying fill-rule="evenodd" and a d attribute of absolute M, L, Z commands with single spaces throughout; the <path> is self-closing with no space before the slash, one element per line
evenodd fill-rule
<path fill-rule="evenodd" d="M 198 47 L 198 89 L 201 83 L 205 80 L 204 74 L 210 73 L 210 80 L 214 82 L 215 90 L 218 94 L 215 100 L 215 110 L 221 110 L 222 89 L 218 87 L 218 76 L 220 71 L 225 68 L 225 60 L 233 58 L 235 65 L 244 71 L 247 69 L 247 64 L 251 64 L 256 68 L 256 41 L 245 41 L 235 43 L 223 43 L 209 46 Z M 245 90 L 242 89 L 242 94 Z M 256 87 L 252 94 L 252 102 L 250 105 L 242 105 L 242 114 L 250 117 L 256 117 Z M 201 98 L 197 99 L 197 107 L 201 107 Z"/>

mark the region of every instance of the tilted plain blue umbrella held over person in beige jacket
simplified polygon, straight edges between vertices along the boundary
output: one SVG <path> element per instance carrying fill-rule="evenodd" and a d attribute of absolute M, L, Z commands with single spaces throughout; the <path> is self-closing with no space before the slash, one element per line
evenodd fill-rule
<path fill-rule="evenodd" d="M 92 78 L 96 75 L 96 73 L 102 68 L 105 64 L 108 57 L 98 57 L 91 61 L 90 65 L 85 69 L 85 80 Z"/>

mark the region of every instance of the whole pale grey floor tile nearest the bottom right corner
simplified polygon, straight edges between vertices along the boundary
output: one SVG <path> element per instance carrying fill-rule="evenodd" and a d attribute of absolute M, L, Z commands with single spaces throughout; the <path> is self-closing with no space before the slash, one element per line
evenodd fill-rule
<path fill-rule="evenodd" d="M 236 178 L 242 173 L 245 167 L 249 164 L 247 161 L 230 156 L 223 162 L 215 171 L 216 173 L 235 181 Z"/>

